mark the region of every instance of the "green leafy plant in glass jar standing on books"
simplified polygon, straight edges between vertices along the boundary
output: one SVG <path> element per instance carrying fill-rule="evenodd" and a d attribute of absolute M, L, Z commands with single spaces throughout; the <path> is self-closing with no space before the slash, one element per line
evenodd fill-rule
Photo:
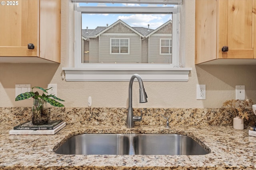
<path fill-rule="evenodd" d="M 37 88 L 43 91 L 42 95 L 39 95 L 39 92 L 33 92 L 33 89 Z M 44 125 L 48 123 L 49 120 L 49 113 L 48 113 L 48 107 L 47 107 L 47 103 L 51 104 L 52 106 L 56 106 L 56 107 L 64 107 L 63 104 L 61 104 L 60 102 L 56 101 L 65 101 L 62 100 L 60 98 L 57 98 L 55 95 L 46 95 L 45 93 L 48 93 L 47 90 L 49 90 L 51 88 L 48 89 L 44 89 L 41 87 L 32 87 L 32 92 L 26 92 L 26 93 L 22 93 L 19 94 L 16 98 L 15 101 L 19 101 L 19 100 L 24 100 L 24 99 L 28 99 L 28 98 L 34 98 L 33 101 L 33 106 L 32 106 L 32 124 L 33 125 Z"/>

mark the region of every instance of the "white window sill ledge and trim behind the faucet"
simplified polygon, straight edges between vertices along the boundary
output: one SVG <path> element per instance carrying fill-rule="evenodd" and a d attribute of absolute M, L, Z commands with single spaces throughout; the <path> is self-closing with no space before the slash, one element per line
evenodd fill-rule
<path fill-rule="evenodd" d="M 192 68 L 73 68 L 63 67 L 66 81 L 129 81 L 139 74 L 143 81 L 187 82 Z"/>

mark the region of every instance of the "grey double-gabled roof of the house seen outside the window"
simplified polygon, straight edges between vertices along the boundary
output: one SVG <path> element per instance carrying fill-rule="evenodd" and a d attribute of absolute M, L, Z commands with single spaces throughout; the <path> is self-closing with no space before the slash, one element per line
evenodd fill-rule
<path fill-rule="evenodd" d="M 124 21 L 118 20 L 118 21 L 114 22 L 112 25 L 110 25 L 108 27 L 96 27 L 95 29 L 82 29 L 82 36 L 87 37 L 87 38 L 98 37 L 99 35 L 108 31 L 110 28 L 114 27 L 118 23 L 124 24 L 126 27 L 128 27 L 129 29 L 131 29 L 132 31 L 134 31 L 135 33 L 140 35 L 141 37 L 149 37 L 153 33 L 156 33 L 158 30 L 160 30 L 161 28 L 166 26 L 168 23 L 172 23 L 172 20 L 167 21 L 166 23 L 164 23 L 163 25 L 161 25 L 157 29 L 148 29 L 148 28 L 145 28 L 145 27 L 131 27 L 130 25 L 128 25 Z"/>

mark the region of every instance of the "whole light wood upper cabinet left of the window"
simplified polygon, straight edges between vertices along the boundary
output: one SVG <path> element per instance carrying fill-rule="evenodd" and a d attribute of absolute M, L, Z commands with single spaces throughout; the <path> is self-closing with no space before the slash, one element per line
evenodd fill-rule
<path fill-rule="evenodd" d="M 60 63 L 60 0 L 2 3 L 0 62 Z"/>

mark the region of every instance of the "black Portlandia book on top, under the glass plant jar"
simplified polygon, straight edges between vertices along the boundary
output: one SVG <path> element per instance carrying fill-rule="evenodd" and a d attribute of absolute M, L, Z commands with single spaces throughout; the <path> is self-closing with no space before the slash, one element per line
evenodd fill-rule
<path fill-rule="evenodd" d="M 63 122 L 63 120 L 50 120 L 46 125 L 33 125 L 32 121 L 28 121 L 15 126 L 13 130 L 53 130 Z"/>

